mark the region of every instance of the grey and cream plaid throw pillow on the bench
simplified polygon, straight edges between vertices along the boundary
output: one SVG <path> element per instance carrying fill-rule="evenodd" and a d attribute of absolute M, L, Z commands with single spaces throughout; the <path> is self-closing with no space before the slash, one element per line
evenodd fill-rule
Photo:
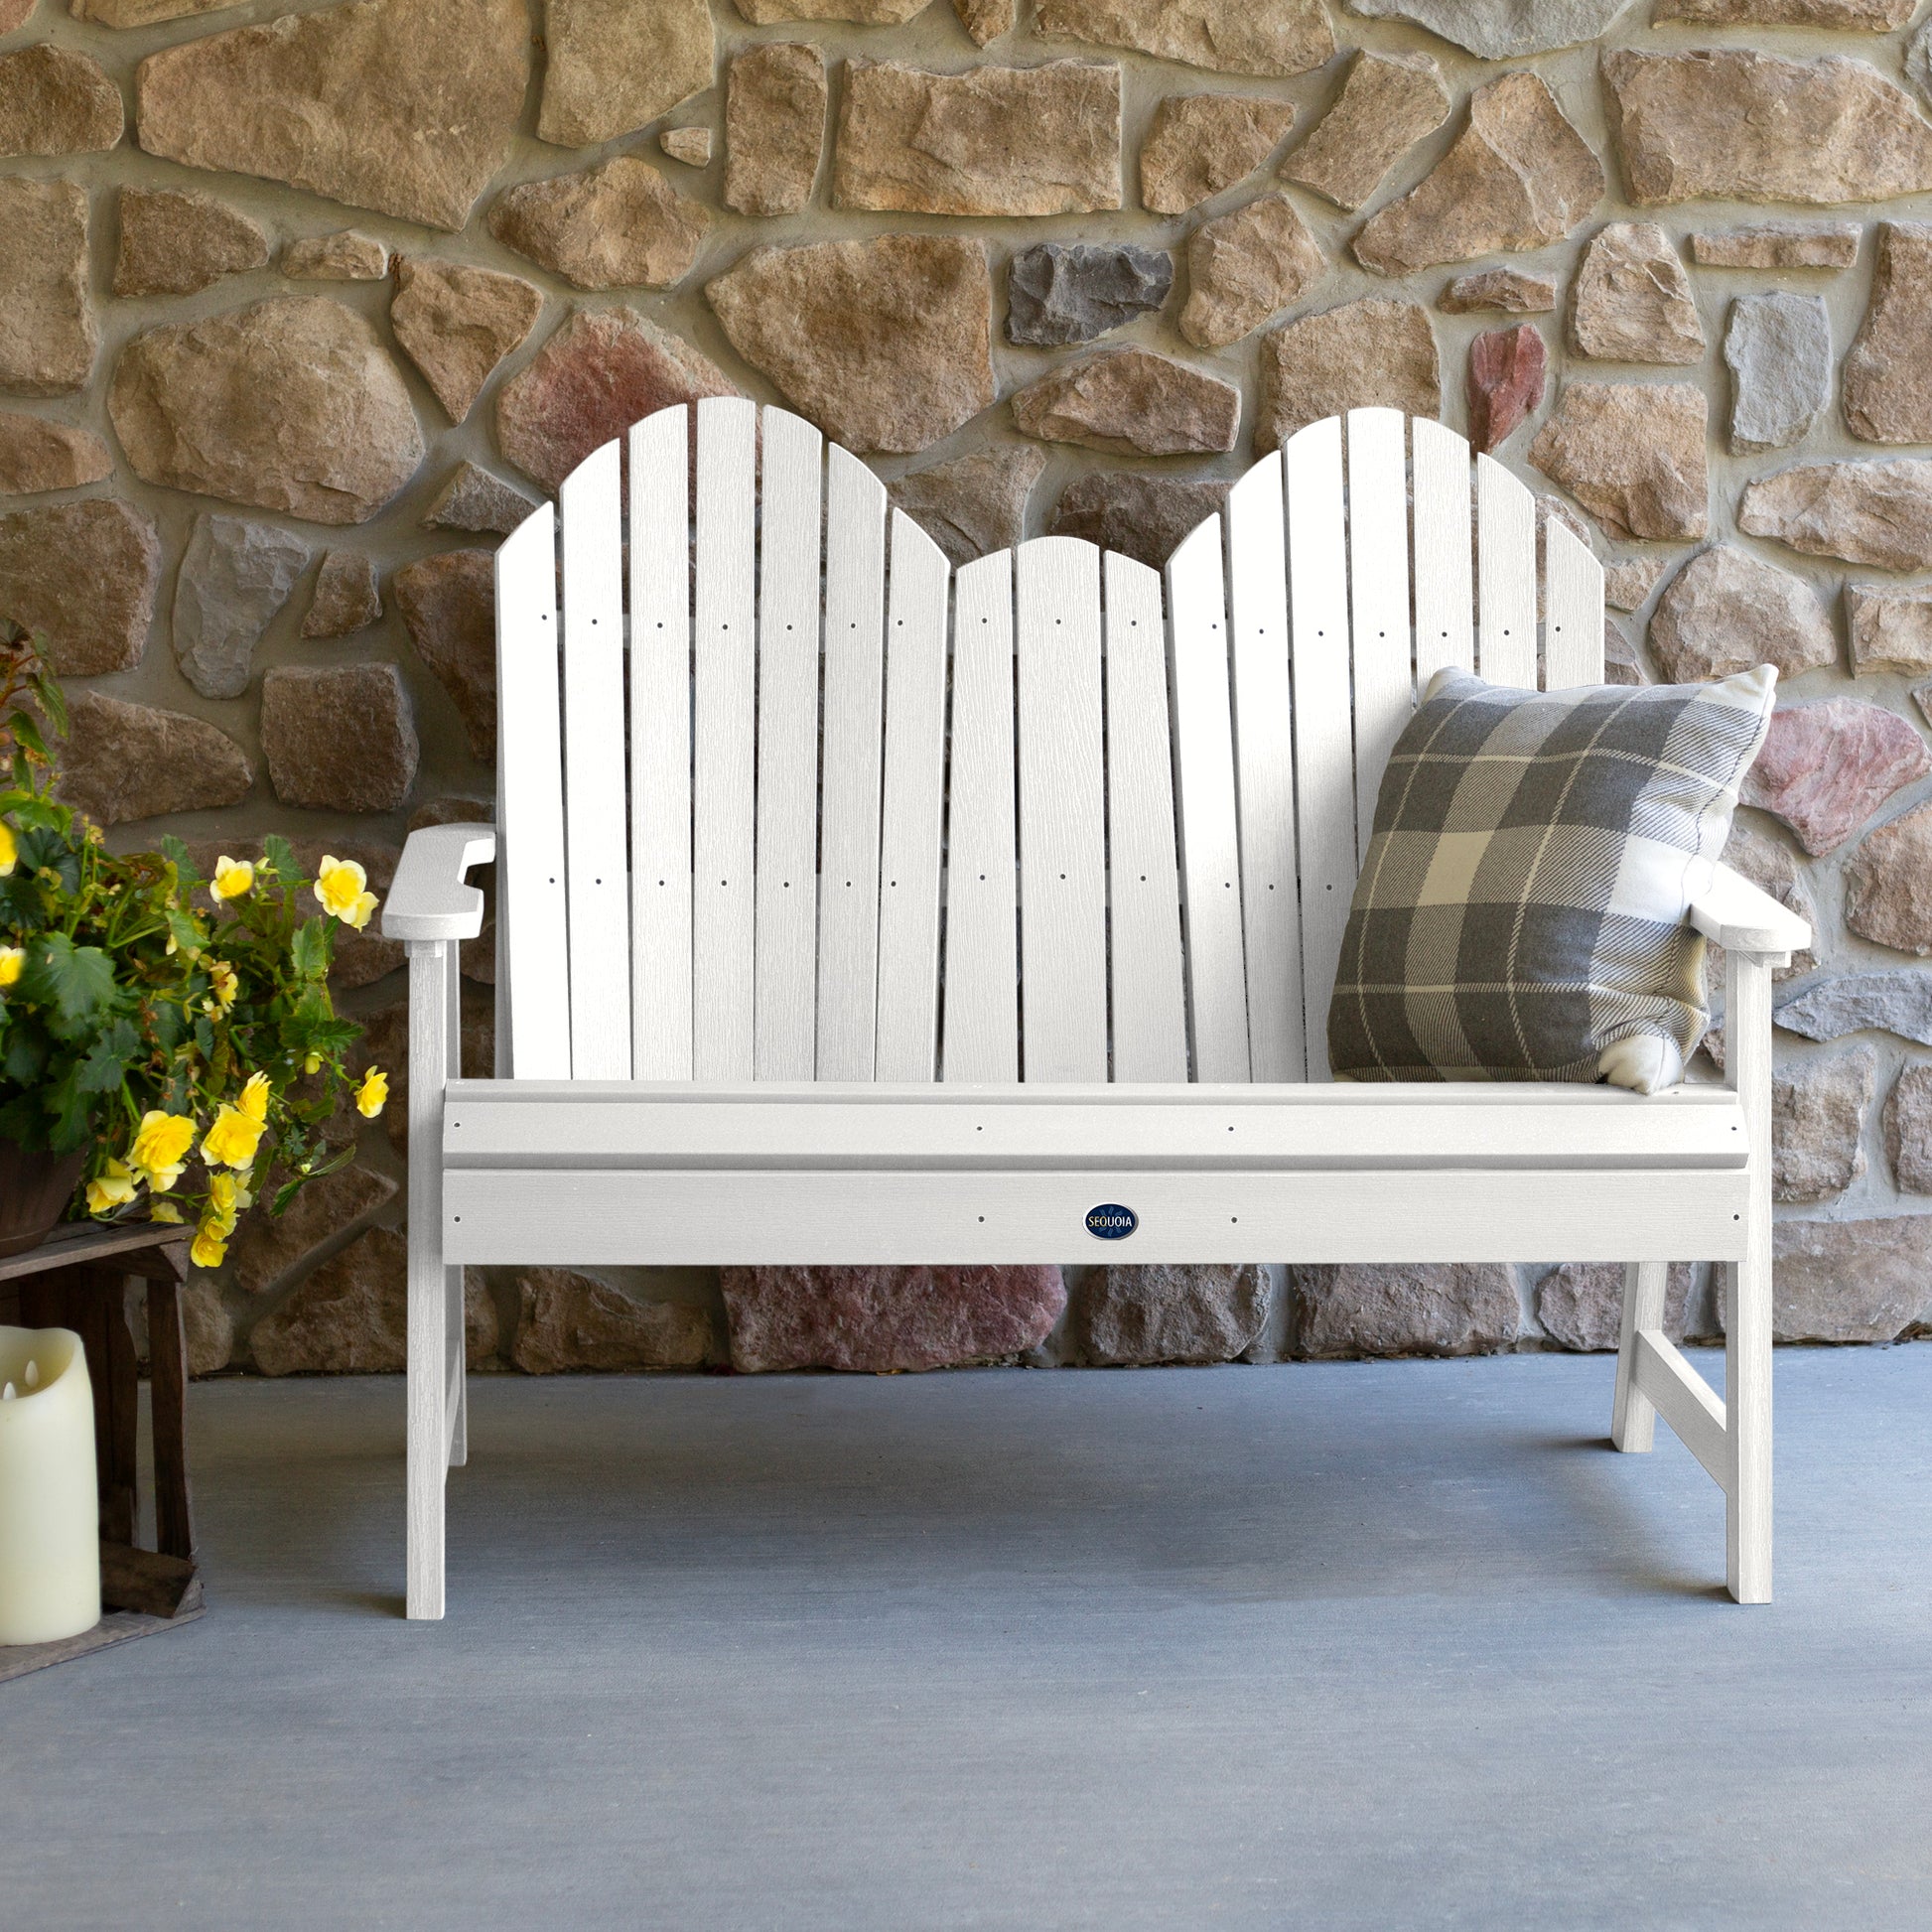
<path fill-rule="evenodd" d="M 1776 684 L 1770 665 L 1569 692 L 1437 672 L 1376 802 L 1335 1078 L 1673 1086 L 1710 1018 L 1685 912 Z"/>

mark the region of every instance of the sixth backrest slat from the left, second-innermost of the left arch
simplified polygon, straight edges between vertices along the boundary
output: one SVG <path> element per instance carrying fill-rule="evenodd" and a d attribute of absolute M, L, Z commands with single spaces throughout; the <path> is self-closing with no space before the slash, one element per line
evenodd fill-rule
<path fill-rule="evenodd" d="M 825 752 L 819 800 L 819 1080 L 871 1080 L 879 970 L 885 485 L 825 466 Z"/>

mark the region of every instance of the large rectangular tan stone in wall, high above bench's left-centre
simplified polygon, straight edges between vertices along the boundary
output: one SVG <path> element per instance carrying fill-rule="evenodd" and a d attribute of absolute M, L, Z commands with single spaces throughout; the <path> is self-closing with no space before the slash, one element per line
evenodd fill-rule
<path fill-rule="evenodd" d="M 848 60 L 833 205 L 910 214 L 1121 207 L 1121 70 L 1092 60 L 927 73 Z"/>

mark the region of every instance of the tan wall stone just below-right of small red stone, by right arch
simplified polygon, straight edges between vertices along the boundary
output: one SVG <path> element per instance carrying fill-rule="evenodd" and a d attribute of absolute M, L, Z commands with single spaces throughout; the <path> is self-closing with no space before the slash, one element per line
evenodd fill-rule
<path fill-rule="evenodd" d="M 1689 383 L 1569 383 L 1530 462 L 1613 537 L 1702 537 L 1704 410 Z"/>

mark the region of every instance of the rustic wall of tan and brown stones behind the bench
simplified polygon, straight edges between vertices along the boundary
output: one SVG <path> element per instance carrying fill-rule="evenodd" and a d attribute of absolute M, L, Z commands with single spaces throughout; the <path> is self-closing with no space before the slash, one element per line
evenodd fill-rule
<path fill-rule="evenodd" d="M 1917 0 L 0 0 L 0 609 L 118 840 L 383 885 L 485 810 L 489 547 L 782 400 L 966 558 L 1159 560 L 1298 423 L 1439 412 L 1609 566 L 1615 674 L 1783 674 L 1777 1327 L 1932 1321 L 1932 85 Z M 396 949 L 344 1005 L 398 1068 Z M 489 949 L 466 1055 L 489 1055 Z M 1721 1041 L 1719 1041 L 1721 1049 Z M 203 1372 L 402 1358 L 402 1109 Z M 1605 1269 L 493 1271 L 580 1366 L 1598 1349 Z M 1721 1323 L 1704 1269 L 1673 1321 Z"/>

